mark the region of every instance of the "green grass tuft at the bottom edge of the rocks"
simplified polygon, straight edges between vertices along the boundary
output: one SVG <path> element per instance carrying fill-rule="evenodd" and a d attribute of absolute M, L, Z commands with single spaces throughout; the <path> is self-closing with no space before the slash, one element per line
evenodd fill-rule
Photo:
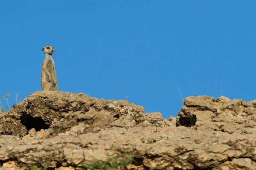
<path fill-rule="evenodd" d="M 125 169 L 128 164 L 134 161 L 134 156 L 128 158 L 118 158 L 117 156 L 109 158 L 107 161 L 90 161 L 88 163 L 82 164 L 84 170 L 121 170 Z"/>

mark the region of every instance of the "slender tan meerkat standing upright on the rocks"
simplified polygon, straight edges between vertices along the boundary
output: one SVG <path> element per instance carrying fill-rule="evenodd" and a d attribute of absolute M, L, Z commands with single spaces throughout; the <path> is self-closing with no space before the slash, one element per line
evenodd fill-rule
<path fill-rule="evenodd" d="M 42 51 L 44 51 L 44 61 L 41 69 L 41 87 L 43 90 L 56 91 L 58 88 L 58 82 L 54 60 L 52 59 L 54 48 L 47 45 L 42 48 Z"/>

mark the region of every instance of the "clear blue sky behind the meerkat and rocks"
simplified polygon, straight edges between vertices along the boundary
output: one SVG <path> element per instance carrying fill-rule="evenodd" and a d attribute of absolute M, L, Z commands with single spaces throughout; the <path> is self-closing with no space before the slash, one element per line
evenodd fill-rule
<path fill-rule="evenodd" d="M 177 116 L 183 97 L 256 99 L 256 1 L 1 2 L 0 96 L 41 90 L 53 45 L 58 90 Z M 3 105 L 6 103 L 3 100 Z"/>

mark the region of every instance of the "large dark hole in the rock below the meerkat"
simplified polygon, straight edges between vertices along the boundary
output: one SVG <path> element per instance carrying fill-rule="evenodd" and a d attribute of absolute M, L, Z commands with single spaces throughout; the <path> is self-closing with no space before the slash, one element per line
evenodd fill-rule
<path fill-rule="evenodd" d="M 32 128 L 35 128 L 35 131 L 40 131 L 41 129 L 48 129 L 50 125 L 47 125 L 41 117 L 32 117 L 30 115 L 20 116 L 22 125 L 26 127 L 29 131 Z"/>

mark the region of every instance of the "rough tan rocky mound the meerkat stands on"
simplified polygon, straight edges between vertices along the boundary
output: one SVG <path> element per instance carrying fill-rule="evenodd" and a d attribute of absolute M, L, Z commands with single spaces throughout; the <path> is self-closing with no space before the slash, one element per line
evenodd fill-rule
<path fill-rule="evenodd" d="M 163 119 L 128 101 L 36 91 L 0 115 L 0 169 L 102 169 L 115 156 L 127 158 L 116 169 L 256 169 L 256 100 L 183 103 L 177 120 Z"/>

